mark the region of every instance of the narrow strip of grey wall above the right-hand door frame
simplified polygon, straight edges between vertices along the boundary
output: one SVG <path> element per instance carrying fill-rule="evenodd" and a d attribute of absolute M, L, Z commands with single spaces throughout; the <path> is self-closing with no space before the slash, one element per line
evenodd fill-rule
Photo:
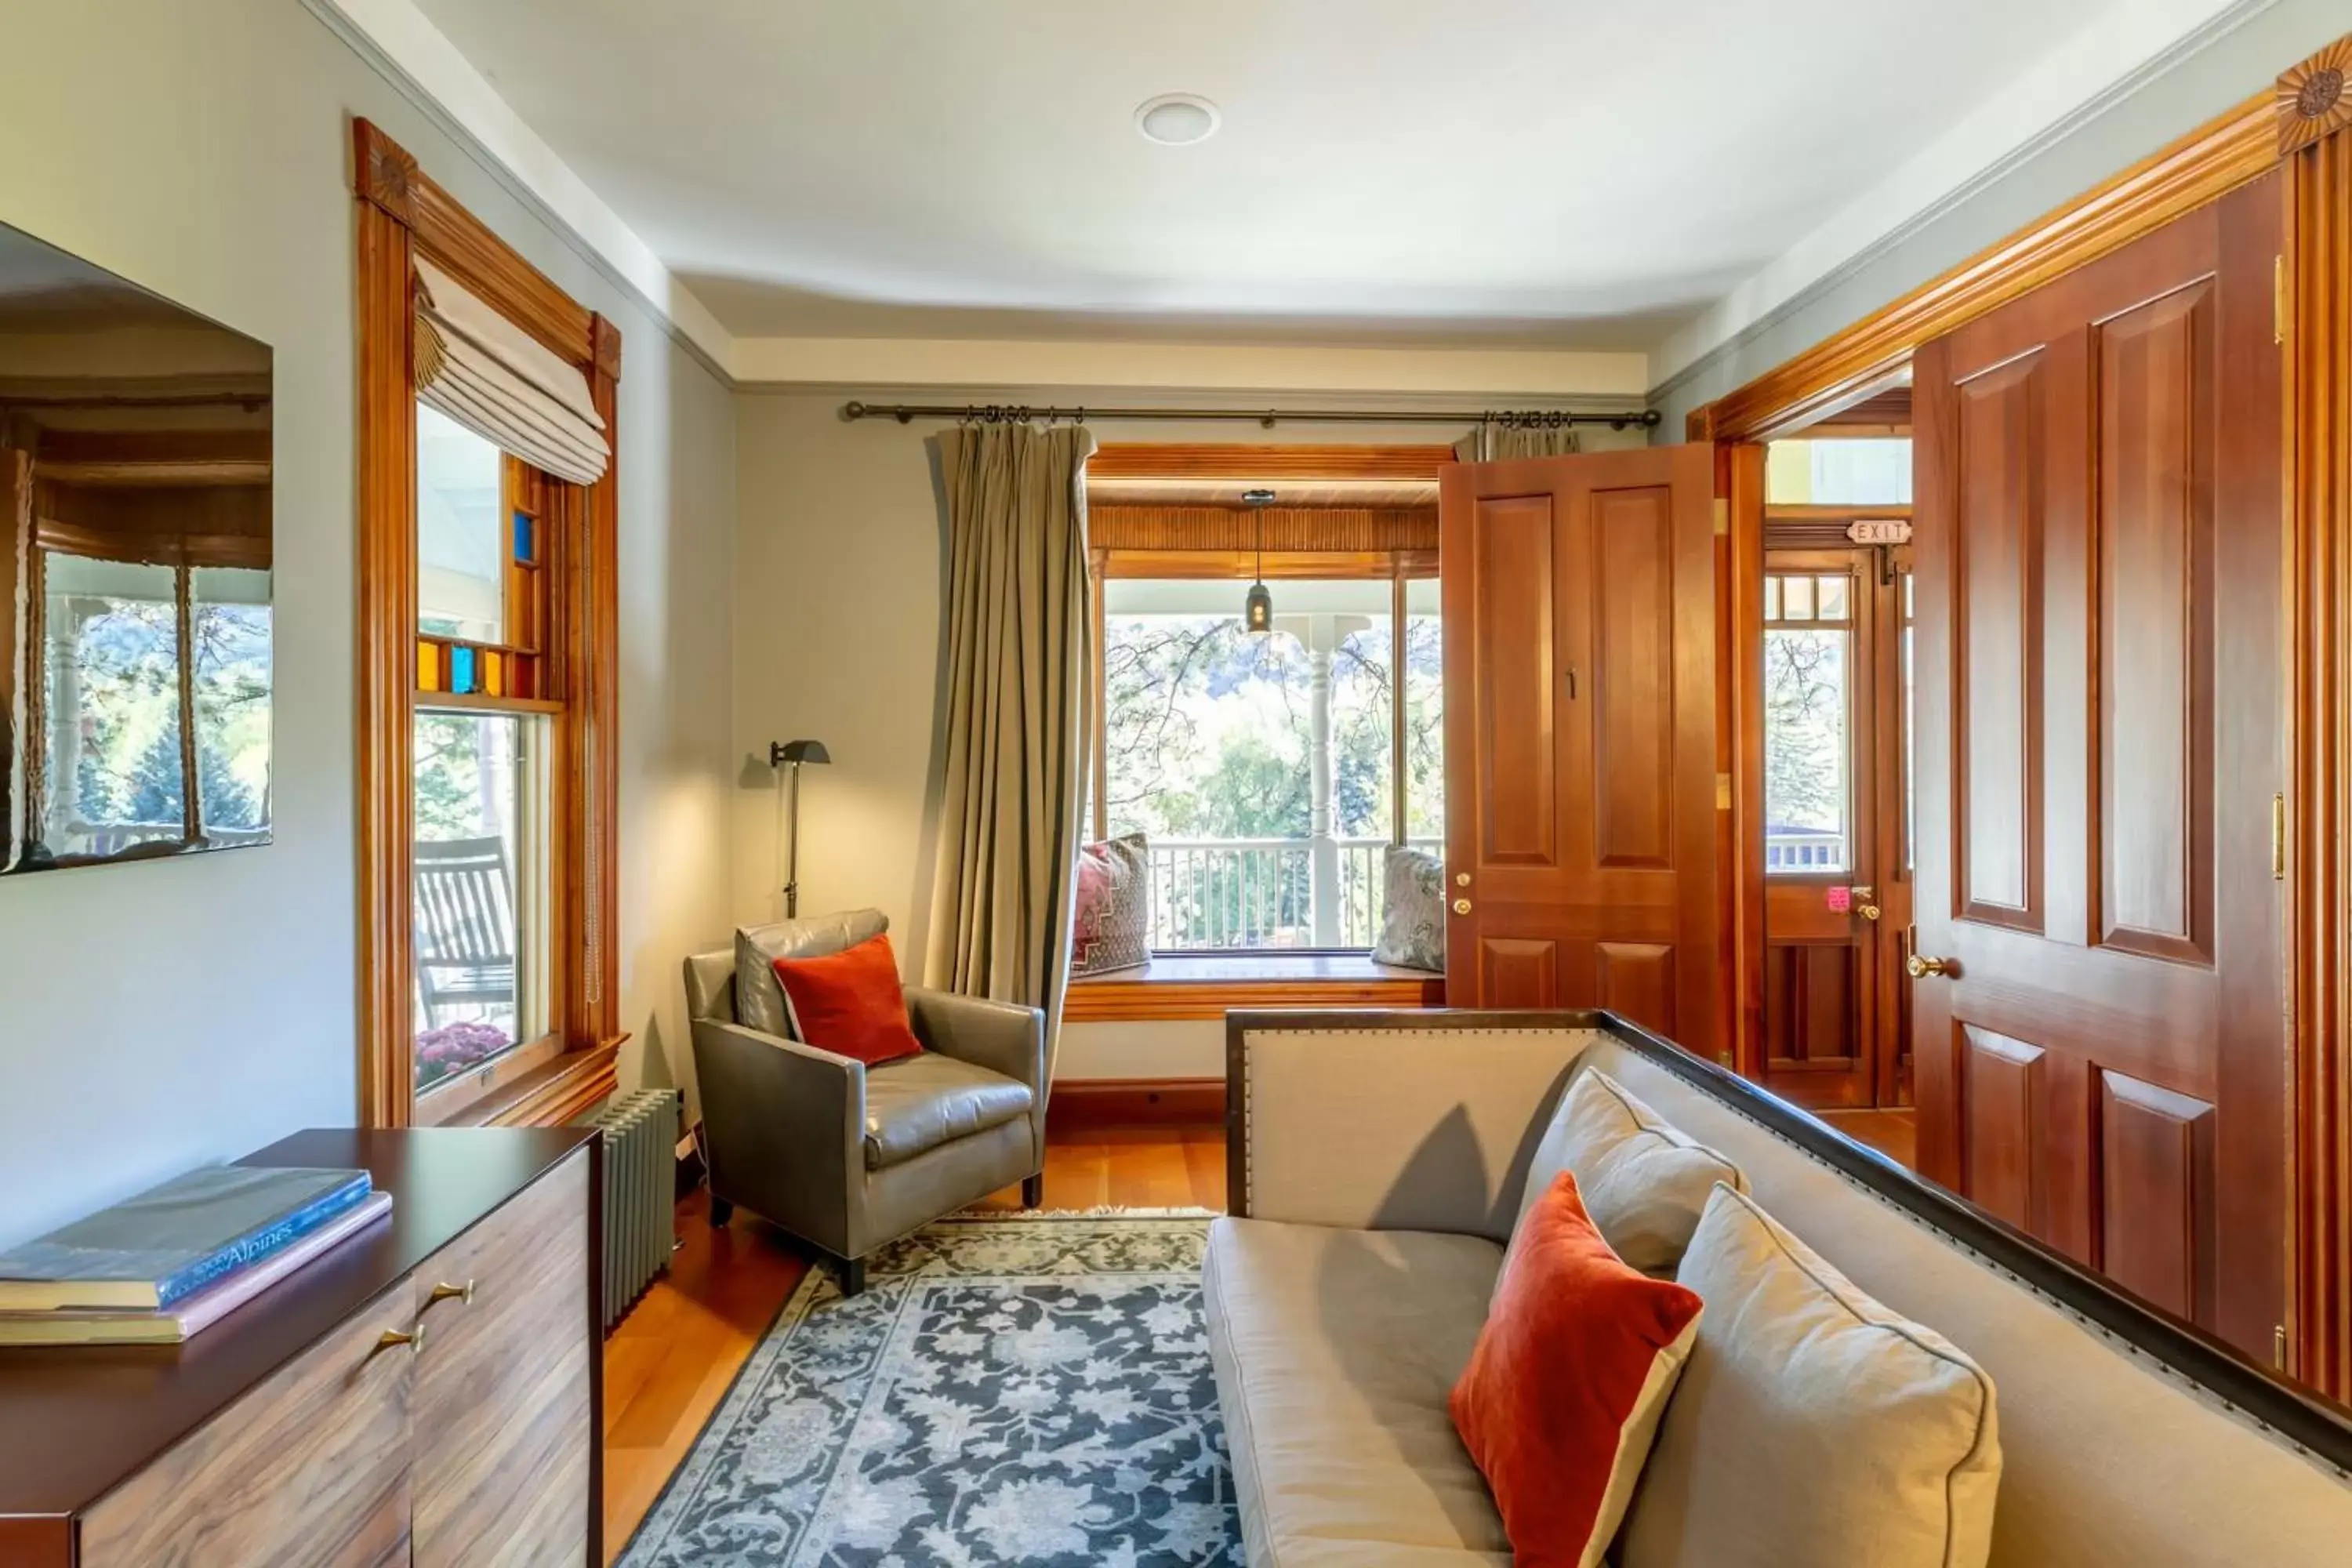
<path fill-rule="evenodd" d="M 2251 94 L 2270 92 L 2281 71 L 2343 38 L 2345 28 L 2352 28 L 2352 9 L 2343 0 L 2274 0 L 2114 108 L 2074 127 L 1893 244 L 1882 244 L 1832 273 L 1740 339 L 1656 388 L 1651 400 L 1665 414 L 1663 430 L 1679 433 L 1682 416 L 1698 404 L 1722 397 L 1886 301 L 1900 299 Z"/>

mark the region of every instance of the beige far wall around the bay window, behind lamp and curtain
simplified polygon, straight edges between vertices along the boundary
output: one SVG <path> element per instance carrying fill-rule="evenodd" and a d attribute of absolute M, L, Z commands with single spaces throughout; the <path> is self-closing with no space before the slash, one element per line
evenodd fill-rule
<path fill-rule="evenodd" d="M 870 397 L 870 393 L 858 393 Z M 938 783 L 934 769 L 946 559 L 936 425 L 844 423 L 847 390 L 736 400 L 736 860 L 734 912 L 783 914 L 781 795 L 767 743 L 816 738 L 833 766 L 802 783 L 802 910 L 877 905 L 908 973 L 929 929 Z M 1023 388 L 1004 402 L 1105 402 Z M 955 393 L 941 402 L 988 402 Z M 1164 395 L 1155 395 L 1167 400 Z M 889 402 L 889 397 L 880 397 Z M 1468 430 L 1470 418 L 1463 421 Z M 1449 442 L 1444 425 L 1098 423 L 1101 442 Z M 1590 444 L 1639 444 L 1590 433 Z M 1223 1025 L 1075 1025 L 1063 1077 L 1221 1077 Z"/>

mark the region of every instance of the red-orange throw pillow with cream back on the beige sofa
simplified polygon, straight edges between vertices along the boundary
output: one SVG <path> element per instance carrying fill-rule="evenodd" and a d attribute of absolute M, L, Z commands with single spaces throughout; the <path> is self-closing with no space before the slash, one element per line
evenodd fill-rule
<path fill-rule="evenodd" d="M 1700 1300 L 1628 1267 L 1566 1171 L 1519 1220 L 1454 1429 L 1494 1493 L 1517 1568 L 1592 1568 L 1698 1338 Z"/>

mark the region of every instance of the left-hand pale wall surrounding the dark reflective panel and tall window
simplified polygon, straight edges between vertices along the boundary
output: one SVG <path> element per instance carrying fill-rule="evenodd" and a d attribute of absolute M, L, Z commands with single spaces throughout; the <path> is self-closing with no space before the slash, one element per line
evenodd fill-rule
<path fill-rule="evenodd" d="M 623 1081 L 675 1079 L 729 929 L 731 393 L 294 0 L 21 5 L 7 54 L 0 221 L 275 348 L 278 842 L 0 884 L 0 1246 L 355 1117 L 353 113 L 621 324 Z"/>

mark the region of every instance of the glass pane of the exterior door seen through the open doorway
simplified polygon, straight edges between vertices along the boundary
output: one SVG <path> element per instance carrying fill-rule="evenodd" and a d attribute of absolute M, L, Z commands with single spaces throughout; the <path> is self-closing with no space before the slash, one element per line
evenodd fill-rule
<path fill-rule="evenodd" d="M 1853 865 L 1853 595 L 1844 571 L 1764 576 L 1764 870 Z"/>

